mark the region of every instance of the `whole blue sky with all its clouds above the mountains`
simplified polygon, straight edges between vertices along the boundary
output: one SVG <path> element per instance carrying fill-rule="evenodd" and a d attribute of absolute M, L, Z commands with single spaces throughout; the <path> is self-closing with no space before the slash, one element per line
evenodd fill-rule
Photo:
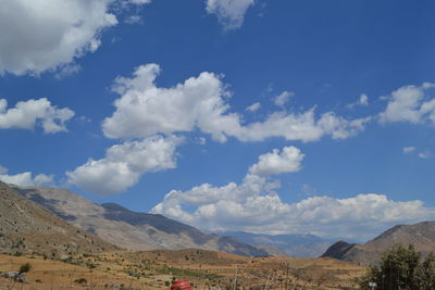
<path fill-rule="evenodd" d="M 433 219 L 434 11 L 7 0 L 0 179 L 207 230 L 364 240 Z"/>

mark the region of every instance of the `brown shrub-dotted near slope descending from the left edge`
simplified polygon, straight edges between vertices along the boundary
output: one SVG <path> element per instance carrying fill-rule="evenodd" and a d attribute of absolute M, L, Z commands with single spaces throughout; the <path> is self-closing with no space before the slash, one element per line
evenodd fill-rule
<path fill-rule="evenodd" d="M 116 250 L 0 182 L 0 252 L 60 257 Z"/>

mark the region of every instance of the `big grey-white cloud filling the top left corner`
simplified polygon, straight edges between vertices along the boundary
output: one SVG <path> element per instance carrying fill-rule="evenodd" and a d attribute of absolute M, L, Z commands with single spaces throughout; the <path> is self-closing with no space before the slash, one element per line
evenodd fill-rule
<path fill-rule="evenodd" d="M 102 30 L 117 24 L 112 4 L 150 0 L 2 0 L 0 74 L 40 74 L 77 68 L 74 60 L 96 51 Z"/>

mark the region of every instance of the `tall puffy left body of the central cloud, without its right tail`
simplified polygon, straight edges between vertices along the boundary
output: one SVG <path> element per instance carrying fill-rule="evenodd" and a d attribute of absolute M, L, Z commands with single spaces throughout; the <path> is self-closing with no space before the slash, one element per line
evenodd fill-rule
<path fill-rule="evenodd" d="M 114 89 L 122 98 L 115 101 L 116 112 L 102 124 L 107 137 L 140 138 L 200 126 L 222 139 L 215 126 L 238 125 L 236 114 L 223 115 L 228 105 L 222 98 L 226 92 L 219 76 L 201 73 L 165 89 L 154 85 L 159 73 L 157 64 L 147 64 L 136 68 L 134 78 L 116 79 Z"/>

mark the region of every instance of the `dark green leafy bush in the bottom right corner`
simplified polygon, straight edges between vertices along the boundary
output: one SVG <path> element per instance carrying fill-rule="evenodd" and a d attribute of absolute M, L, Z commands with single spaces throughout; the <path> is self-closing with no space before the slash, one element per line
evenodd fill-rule
<path fill-rule="evenodd" d="M 435 256 L 431 253 L 423 260 L 412 244 L 397 244 L 383 253 L 380 264 L 368 268 L 360 287 L 371 289 L 369 282 L 385 290 L 435 289 Z"/>

